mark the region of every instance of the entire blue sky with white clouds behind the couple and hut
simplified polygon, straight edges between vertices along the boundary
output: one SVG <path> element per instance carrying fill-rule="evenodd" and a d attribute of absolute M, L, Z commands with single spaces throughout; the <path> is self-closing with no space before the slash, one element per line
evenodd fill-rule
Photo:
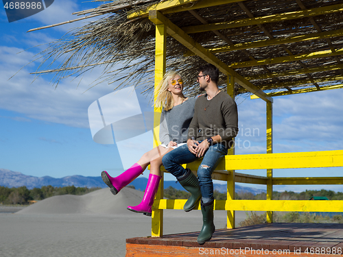
<path fill-rule="evenodd" d="M 27 33 L 27 30 L 75 19 L 77 17 L 71 15 L 72 12 L 97 5 L 55 0 L 47 10 L 13 23 L 8 23 L 5 10 L 0 8 L 0 169 L 54 178 L 99 176 L 104 169 L 116 175 L 123 171 L 123 165 L 138 160 L 151 148 L 152 138 L 149 136 L 128 145 L 127 156 L 119 155 L 117 145 L 101 145 L 93 141 L 88 106 L 113 93 L 115 88 L 113 84 L 105 83 L 91 88 L 101 69 L 93 69 L 81 78 L 64 79 L 57 88 L 51 83 L 51 75 L 34 80 L 34 75 L 29 74 L 36 71 L 40 63 L 36 55 L 39 57 L 45 44 L 86 21 L 37 32 Z M 137 97 L 141 110 L 151 112 L 149 97 L 139 92 Z M 342 98 L 342 89 L 275 97 L 274 152 L 342 149 Z M 240 129 L 236 154 L 265 153 L 265 102 L 243 96 L 236 97 L 236 102 Z M 265 175 L 265 171 L 241 172 Z M 147 174 L 145 171 L 144 176 Z M 342 168 L 274 170 L 278 177 L 341 174 Z M 174 180 L 171 175 L 166 175 L 166 179 Z M 343 186 L 275 187 L 278 191 L 303 191 L 305 188 L 343 191 Z"/>

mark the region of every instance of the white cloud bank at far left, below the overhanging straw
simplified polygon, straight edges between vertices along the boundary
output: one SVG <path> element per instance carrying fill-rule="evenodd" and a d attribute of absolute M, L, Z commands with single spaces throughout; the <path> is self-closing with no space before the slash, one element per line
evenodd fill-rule
<path fill-rule="evenodd" d="M 21 67 L 32 60 L 34 54 L 30 51 L 17 54 L 22 50 L 0 47 L 0 54 L 5 58 L 1 58 L 3 62 L 0 62 L 0 108 L 25 114 L 31 119 L 88 127 L 88 106 L 99 97 L 113 92 L 113 86 L 108 87 L 107 84 L 98 84 L 86 91 L 102 70 L 96 68 L 85 73 L 81 81 L 80 78 L 72 80 L 73 77 L 69 77 L 55 88 L 45 79 L 49 75 L 40 76 L 32 82 L 34 75 L 29 75 L 27 67 Z M 12 75 L 14 77 L 10 79 Z"/>

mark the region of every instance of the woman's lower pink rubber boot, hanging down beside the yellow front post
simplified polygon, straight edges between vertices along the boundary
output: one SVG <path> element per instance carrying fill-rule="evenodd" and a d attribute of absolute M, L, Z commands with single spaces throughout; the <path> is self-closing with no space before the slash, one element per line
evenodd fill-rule
<path fill-rule="evenodd" d="M 149 174 L 149 180 L 147 180 L 147 188 L 145 188 L 145 193 L 141 204 L 137 206 L 128 206 L 128 210 L 132 212 L 140 212 L 143 215 L 151 216 L 151 207 L 154 204 L 155 195 L 157 193 L 158 185 L 162 177 L 154 174 Z"/>

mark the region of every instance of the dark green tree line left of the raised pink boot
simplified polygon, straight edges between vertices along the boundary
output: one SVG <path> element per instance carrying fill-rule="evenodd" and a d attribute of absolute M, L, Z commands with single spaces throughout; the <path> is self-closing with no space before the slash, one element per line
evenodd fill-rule
<path fill-rule="evenodd" d="M 42 186 L 28 189 L 26 186 L 8 188 L 0 186 L 0 204 L 29 204 L 30 200 L 43 200 L 54 195 L 84 195 L 100 188 L 75 186 Z"/>

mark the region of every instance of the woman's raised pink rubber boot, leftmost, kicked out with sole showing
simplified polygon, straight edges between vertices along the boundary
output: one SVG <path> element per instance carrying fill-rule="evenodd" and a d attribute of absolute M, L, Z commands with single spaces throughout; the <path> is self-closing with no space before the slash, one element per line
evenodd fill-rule
<path fill-rule="evenodd" d="M 102 171 L 102 180 L 104 180 L 106 185 L 110 188 L 111 193 L 113 193 L 113 195 L 117 195 L 117 193 L 121 191 L 121 188 L 134 181 L 142 172 L 143 169 L 141 165 L 135 163 L 132 167 L 115 178 L 108 175 L 107 171 Z"/>

